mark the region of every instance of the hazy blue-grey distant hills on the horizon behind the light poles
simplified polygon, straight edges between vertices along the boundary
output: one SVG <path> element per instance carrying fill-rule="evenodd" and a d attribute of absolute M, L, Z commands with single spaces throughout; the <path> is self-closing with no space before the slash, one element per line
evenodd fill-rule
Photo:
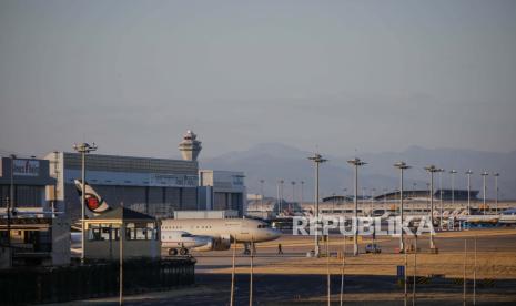
<path fill-rule="evenodd" d="M 324 154 L 324 153 L 323 153 Z M 304 200 L 312 201 L 314 194 L 314 169 L 307 160 L 313 152 L 299 150 L 281 143 L 257 144 L 246 151 L 230 152 L 217 157 L 201 160 L 201 167 L 215 170 L 244 171 L 249 193 L 260 193 L 260 180 L 265 180 L 265 195 L 276 195 L 276 182 L 284 180 L 284 197 L 292 198 L 291 181 L 295 181 L 296 200 L 300 196 L 300 181 L 304 181 Z M 333 193 L 346 194 L 353 192 L 353 169 L 346 163 L 353 155 L 331 156 L 327 163 L 321 166 L 321 194 L 328 196 Z M 398 188 L 398 172 L 393 166 L 396 161 L 403 160 L 413 169 L 405 173 L 405 188 L 426 188 L 429 175 L 424 166 L 435 164 L 446 170 L 442 174 L 443 187 L 451 187 L 451 175 L 448 171 L 455 169 L 456 188 L 466 187 L 467 169 L 474 171 L 472 175 L 472 188 L 482 190 L 482 177 L 484 170 L 489 173 L 499 172 L 499 196 L 500 198 L 516 198 L 516 152 L 495 153 L 456 149 L 424 149 L 411 146 L 403 152 L 362 153 L 360 156 L 367 165 L 360 169 L 360 193 L 362 187 L 366 194 L 376 188 L 375 194 L 387 188 Z M 416 185 L 414 185 L 416 184 Z M 439 175 L 435 175 L 435 188 L 438 188 Z M 482 196 L 482 193 L 479 194 Z M 495 197 L 494 177 L 487 177 L 487 197 Z"/>

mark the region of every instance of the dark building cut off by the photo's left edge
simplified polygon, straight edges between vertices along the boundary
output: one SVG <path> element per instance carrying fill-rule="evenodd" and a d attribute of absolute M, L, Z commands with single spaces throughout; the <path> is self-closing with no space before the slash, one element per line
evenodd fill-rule
<path fill-rule="evenodd" d="M 0 268 L 70 263 L 70 223 L 48 197 L 54 184 L 49 161 L 1 157 Z"/>

